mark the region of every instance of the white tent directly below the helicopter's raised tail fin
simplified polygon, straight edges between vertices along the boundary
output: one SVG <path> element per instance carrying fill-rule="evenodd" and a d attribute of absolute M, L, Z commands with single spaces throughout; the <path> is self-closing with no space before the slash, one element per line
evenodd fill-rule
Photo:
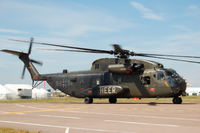
<path fill-rule="evenodd" d="M 34 88 L 32 90 L 32 98 L 51 98 L 51 93 L 43 88 L 41 89 Z"/>

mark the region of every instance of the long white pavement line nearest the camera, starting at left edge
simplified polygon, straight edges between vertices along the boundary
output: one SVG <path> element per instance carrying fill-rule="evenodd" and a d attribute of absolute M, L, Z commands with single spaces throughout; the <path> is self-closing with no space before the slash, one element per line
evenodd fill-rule
<path fill-rule="evenodd" d="M 2 122 L 2 123 L 10 123 L 10 124 L 29 125 L 29 126 L 51 127 L 51 128 L 64 128 L 64 129 L 69 128 L 69 129 L 86 130 L 86 131 L 113 132 L 113 133 L 136 133 L 136 132 L 104 130 L 104 129 L 92 129 L 92 128 L 79 128 L 79 127 L 44 125 L 44 124 L 36 124 L 36 123 L 24 123 L 24 122 L 16 122 L 16 121 L 2 121 L 2 120 L 0 120 L 0 122 Z"/>

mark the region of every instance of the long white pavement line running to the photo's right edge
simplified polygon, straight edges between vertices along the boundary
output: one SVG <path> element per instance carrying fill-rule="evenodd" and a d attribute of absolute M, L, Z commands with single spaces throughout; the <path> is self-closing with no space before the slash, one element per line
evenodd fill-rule
<path fill-rule="evenodd" d="M 153 119 L 173 119 L 173 120 L 183 120 L 183 121 L 200 121 L 200 119 L 186 119 L 186 118 L 174 118 L 174 117 L 159 117 L 159 116 L 143 116 L 143 115 L 124 115 L 124 114 L 109 114 L 109 113 L 96 113 L 96 112 L 80 112 L 80 111 L 67 111 L 62 110 L 62 112 L 70 113 L 80 113 L 80 114 L 93 114 L 93 115 L 113 115 L 113 116 L 125 116 L 125 117 L 144 117 Z"/>

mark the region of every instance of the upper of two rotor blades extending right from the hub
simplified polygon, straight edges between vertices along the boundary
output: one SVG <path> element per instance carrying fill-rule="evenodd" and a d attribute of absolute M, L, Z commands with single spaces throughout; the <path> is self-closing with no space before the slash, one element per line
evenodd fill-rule
<path fill-rule="evenodd" d="M 164 55 L 164 54 L 147 54 L 147 53 L 134 53 L 136 56 L 168 56 L 168 57 L 181 57 L 181 58 L 200 58 L 199 56 L 182 56 L 182 55 Z"/>

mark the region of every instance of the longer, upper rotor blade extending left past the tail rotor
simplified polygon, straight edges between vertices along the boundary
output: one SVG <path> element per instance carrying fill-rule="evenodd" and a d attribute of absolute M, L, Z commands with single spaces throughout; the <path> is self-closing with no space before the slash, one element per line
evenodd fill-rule
<path fill-rule="evenodd" d="M 14 40 L 14 39 L 9 39 L 9 40 L 17 41 L 17 42 L 30 43 L 29 41 L 23 41 L 23 40 Z M 80 49 L 80 50 L 88 50 L 88 51 L 94 51 L 94 52 L 113 54 L 113 51 L 108 51 L 108 50 L 89 49 L 89 48 L 72 47 L 72 46 L 66 46 L 66 45 L 57 45 L 57 44 L 40 43 L 40 42 L 32 42 L 32 43 L 41 44 L 41 45 L 48 45 L 48 46 L 56 46 L 56 47 L 63 47 L 63 48 Z"/>

